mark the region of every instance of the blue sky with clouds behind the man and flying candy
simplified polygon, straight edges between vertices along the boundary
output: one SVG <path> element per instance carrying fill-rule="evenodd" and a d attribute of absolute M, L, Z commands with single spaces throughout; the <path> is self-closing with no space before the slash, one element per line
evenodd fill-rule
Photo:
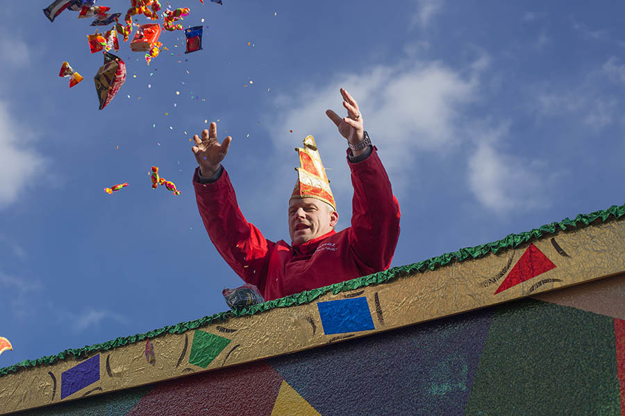
<path fill-rule="evenodd" d="M 240 207 L 273 240 L 289 240 L 293 148 L 315 136 L 342 229 L 346 146 L 324 112 L 343 114 L 347 88 L 401 206 L 393 266 L 623 203 L 620 2 L 170 1 L 209 26 L 203 51 L 163 33 L 148 67 L 122 44 L 128 78 L 102 111 L 94 28 L 50 23 L 48 3 L 12 2 L 0 28 L 0 336 L 15 349 L 0 367 L 227 309 L 242 281 L 191 184 L 204 120 L 232 135 Z M 65 60 L 85 77 L 72 89 Z M 153 165 L 180 196 L 151 189 Z"/>

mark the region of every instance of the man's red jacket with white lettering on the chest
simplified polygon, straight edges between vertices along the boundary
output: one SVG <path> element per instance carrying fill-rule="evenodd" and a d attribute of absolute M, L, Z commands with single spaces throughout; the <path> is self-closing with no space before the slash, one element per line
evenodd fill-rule
<path fill-rule="evenodd" d="M 399 239 L 399 203 L 374 147 L 351 163 L 351 227 L 299 245 L 263 237 L 241 213 L 228 173 L 213 183 L 193 177 L 204 227 L 224 260 L 265 300 L 355 279 L 390 266 Z"/>

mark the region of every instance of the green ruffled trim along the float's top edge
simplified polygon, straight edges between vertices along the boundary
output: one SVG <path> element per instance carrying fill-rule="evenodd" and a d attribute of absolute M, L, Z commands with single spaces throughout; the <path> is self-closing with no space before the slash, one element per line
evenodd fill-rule
<path fill-rule="evenodd" d="M 269 311 L 274 308 L 286 308 L 292 305 L 301 305 L 308 302 L 312 302 L 325 293 L 332 292 L 337 294 L 344 291 L 353 291 L 354 289 L 363 288 L 374 284 L 381 284 L 385 281 L 389 281 L 394 277 L 408 276 L 416 272 L 424 272 L 425 270 L 435 270 L 440 266 L 445 266 L 452 261 L 465 261 L 467 259 L 478 259 L 484 257 L 489 253 L 497 254 L 502 250 L 516 248 L 523 243 L 540 239 L 542 236 L 549 234 L 557 234 L 560 231 L 567 231 L 567 229 L 583 228 L 592 224 L 596 220 L 601 220 L 601 223 L 608 221 L 610 218 L 618 219 L 625 215 L 625 205 L 620 207 L 612 205 L 612 207 L 603 211 L 595 211 L 592 214 L 579 214 L 574 220 L 565 218 L 559 223 L 551 223 L 542 225 L 537 229 L 532 229 L 528 232 L 522 232 L 521 234 L 510 234 L 506 238 L 493 243 L 487 243 L 478 245 L 476 247 L 461 248 L 457 252 L 451 252 L 442 254 L 438 257 L 433 257 L 428 260 L 419 261 L 419 263 L 412 263 L 408 266 L 394 267 L 383 272 L 377 272 L 373 275 L 358 277 L 358 279 L 352 279 L 348 281 L 342 281 L 330 286 L 324 286 L 322 288 L 313 289 L 312 291 L 304 291 L 295 295 L 281 297 L 280 299 L 270 300 L 263 304 L 251 305 L 244 308 L 237 309 L 235 311 L 226 311 L 216 313 L 215 315 L 205 316 L 198 320 L 192 320 L 189 322 L 181 322 L 176 325 L 169 325 L 164 328 L 155 329 L 145 333 L 138 333 L 133 336 L 119 337 L 115 340 L 108 341 L 106 343 L 85 346 L 77 349 L 66 349 L 59 354 L 53 356 L 46 356 L 38 358 L 34 361 L 24 360 L 21 363 L 11 365 L 10 367 L 4 367 L 0 369 L 0 376 L 18 372 L 20 369 L 28 367 L 35 367 L 37 365 L 51 365 L 56 361 L 64 360 L 69 356 L 74 358 L 81 358 L 81 356 L 88 356 L 91 352 L 108 351 L 116 347 L 122 347 L 123 345 L 129 345 L 138 343 L 139 341 L 147 338 L 154 338 L 156 336 L 163 335 L 164 333 L 184 333 L 190 329 L 197 329 L 204 327 L 213 322 L 224 322 L 232 317 L 240 317 L 244 315 L 254 315 L 264 311 Z"/>

